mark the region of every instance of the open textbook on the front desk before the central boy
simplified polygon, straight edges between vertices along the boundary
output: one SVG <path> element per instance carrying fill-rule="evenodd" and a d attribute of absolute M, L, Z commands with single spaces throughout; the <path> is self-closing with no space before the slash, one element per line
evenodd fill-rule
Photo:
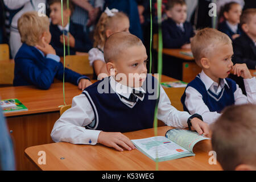
<path fill-rule="evenodd" d="M 195 156 L 193 147 L 201 140 L 209 139 L 183 129 L 168 130 L 166 136 L 131 140 L 137 149 L 150 159 L 158 162 Z"/>

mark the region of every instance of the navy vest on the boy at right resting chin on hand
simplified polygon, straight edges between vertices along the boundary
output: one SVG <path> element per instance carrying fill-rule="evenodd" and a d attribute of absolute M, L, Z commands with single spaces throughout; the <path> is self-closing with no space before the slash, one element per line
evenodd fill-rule
<path fill-rule="evenodd" d="M 226 106 L 234 104 L 234 92 L 237 90 L 235 81 L 230 78 L 225 78 L 225 80 L 228 83 L 229 88 L 225 84 L 224 88 L 222 88 L 218 95 L 205 88 L 204 82 L 200 79 L 200 75 L 197 75 L 196 78 L 187 85 L 187 88 L 188 86 L 191 86 L 192 88 L 196 89 L 197 92 L 202 95 L 205 105 L 208 106 L 211 112 L 217 111 L 217 113 L 221 113 Z M 185 97 L 186 93 L 184 92 L 183 96 L 181 97 L 181 103 L 183 104 L 184 111 L 188 111 L 187 107 L 185 106 Z"/>

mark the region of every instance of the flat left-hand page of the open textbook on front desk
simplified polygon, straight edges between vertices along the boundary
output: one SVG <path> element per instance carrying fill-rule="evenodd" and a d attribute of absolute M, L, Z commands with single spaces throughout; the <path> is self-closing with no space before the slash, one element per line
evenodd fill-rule
<path fill-rule="evenodd" d="M 131 142 L 133 142 L 143 154 L 147 155 L 152 160 L 156 161 L 156 159 L 158 159 L 159 162 L 195 155 L 163 136 L 135 139 L 131 140 Z"/>

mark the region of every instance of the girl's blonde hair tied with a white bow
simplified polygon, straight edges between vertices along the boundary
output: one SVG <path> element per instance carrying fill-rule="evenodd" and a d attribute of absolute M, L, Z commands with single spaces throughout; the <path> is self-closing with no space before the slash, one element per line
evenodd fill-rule
<path fill-rule="evenodd" d="M 111 29 L 115 30 L 118 25 L 118 19 L 128 18 L 128 16 L 122 12 L 114 13 L 114 16 L 108 16 L 106 13 L 102 13 L 96 28 L 94 30 L 94 47 L 101 46 L 103 47 L 106 41 L 106 30 Z"/>

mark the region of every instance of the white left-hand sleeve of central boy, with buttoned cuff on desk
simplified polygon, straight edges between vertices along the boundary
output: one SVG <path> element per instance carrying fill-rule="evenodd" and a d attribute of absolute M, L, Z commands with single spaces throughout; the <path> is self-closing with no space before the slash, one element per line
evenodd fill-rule
<path fill-rule="evenodd" d="M 55 142 L 96 144 L 101 131 L 85 129 L 94 119 L 92 106 L 84 94 L 73 98 L 72 107 L 65 111 L 53 126 L 51 137 Z"/>

